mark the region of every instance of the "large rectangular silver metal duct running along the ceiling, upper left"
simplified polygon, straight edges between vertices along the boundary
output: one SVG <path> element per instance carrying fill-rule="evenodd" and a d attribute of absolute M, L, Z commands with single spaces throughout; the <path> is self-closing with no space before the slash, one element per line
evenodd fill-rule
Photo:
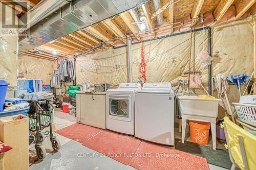
<path fill-rule="evenodd" d="M 20 36 L 19 53 L 32 50 L 36 46 L 91 26 L 96 22 L 135 8 L 147 1 L 73 0 L 71 3 L 58 8 L 49 16 L 38 20 L 38 23 L 28 29 L 28 35 Z M 63 3 L 63 0 L 61 2 Z"/>

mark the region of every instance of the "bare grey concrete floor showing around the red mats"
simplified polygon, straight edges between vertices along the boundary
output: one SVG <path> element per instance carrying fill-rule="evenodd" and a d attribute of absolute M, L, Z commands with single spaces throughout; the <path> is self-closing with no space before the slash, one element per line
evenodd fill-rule
<path fill-rule="evenodd" d="M 68 113 L 62 113 L 56 109 L 54 113 L 55 130 L 67 127 L 76 123 L 76 118 Z M 48 169 L 134 169 L 124 165 L 110 157 L 104 156 L 90 148 L 84 147 L 81 143 L 64 136 L 55 134 L 60 140 L 61 148 L 54 153 L 49 138 L 43 143 L 47 156 L 43 161 L 37 161 L 30 166 L 30 170 Z M 30 152 L 34 152 L 33 146 Z M 210 170 L 224 170 L 225 168 L 209 164 Z"/>

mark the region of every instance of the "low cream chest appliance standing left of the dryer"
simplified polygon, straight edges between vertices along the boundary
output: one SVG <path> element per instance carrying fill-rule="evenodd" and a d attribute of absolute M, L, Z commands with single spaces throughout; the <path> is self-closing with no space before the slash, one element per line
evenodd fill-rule
<path fill-rule="evenodd" d="M 77 91 L 76 122 L 106 129 L 106 92 Z"/>

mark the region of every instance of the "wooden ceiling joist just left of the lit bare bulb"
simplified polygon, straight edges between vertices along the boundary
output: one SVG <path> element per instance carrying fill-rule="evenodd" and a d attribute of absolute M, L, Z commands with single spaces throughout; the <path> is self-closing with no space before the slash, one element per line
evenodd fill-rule
<path fill-rule="evenodd" d="M 140 36 L 137 35 L 139 33 L 139 29 L 136 25 L 132 24 L 134 22 L 131 14 L 129 12 L 123 12 L 119 14 L 119 16 L 122 18 L 122 20 L 125 22 L 127 27 L 132 31 L 132 33 L 135 35 L 138 41 L 140 41 Z"/>

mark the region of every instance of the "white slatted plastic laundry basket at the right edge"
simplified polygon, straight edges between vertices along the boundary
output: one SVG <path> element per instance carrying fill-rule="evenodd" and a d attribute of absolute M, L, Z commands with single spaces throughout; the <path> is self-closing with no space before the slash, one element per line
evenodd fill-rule
<path fill-rule="evenodd" d="M 256 127 L 256 105 L 232 103 L 241 122 Z"/>

